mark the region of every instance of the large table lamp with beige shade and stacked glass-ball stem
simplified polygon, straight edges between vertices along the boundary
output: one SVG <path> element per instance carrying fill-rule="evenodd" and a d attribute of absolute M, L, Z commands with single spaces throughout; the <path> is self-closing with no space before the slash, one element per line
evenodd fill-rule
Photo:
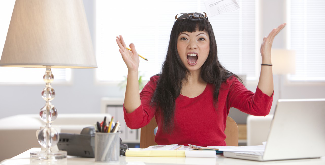
<path fill-rule="evenodd" d="M 82 0 L 16 0 L 0 66 L 46 68 L 40 118 L 46 126 L 38 134 L 45 151 L 31 152 L 41 160 L 64 159 L 66 151 L 51 151 L 59 133 L 51 126 L 57 109 L 51 68 L 97 68 Z"/>

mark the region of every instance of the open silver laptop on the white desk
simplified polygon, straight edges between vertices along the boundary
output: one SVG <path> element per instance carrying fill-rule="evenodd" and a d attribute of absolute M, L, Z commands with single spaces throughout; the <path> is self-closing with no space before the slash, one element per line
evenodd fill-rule
<path fill-rule="evenodd" d="M 279 99 L 264 152 L 229 152 L 228 158 L 256 161 L 325 156 L 325 99 Z"/>

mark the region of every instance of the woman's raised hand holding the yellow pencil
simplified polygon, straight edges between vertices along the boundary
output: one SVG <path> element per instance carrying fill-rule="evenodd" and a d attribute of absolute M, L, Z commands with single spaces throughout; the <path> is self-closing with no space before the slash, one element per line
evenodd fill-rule
<path fill-rule="evenodd" d="M 119 51 L 129 71 L 138 72 L 140 60 L 139 60 L 138 53 L 136 53 L 136 47 L 134 46 L 134 44 L 133 43 L 130 44 L 131 51 L 127 50 L 126 44 L 121 35 L 120 37 L 116 37 L 116 43 L 120 47 Z"/>

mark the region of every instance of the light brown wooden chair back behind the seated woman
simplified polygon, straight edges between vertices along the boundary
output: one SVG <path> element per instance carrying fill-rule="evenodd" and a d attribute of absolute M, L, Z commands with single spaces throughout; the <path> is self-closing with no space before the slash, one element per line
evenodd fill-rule
<path fill-rule="evenodd" d="M 140 148 L 158 145 L 155 142 L 153 130 L 157 127 L 156 118 L 153 117 L 149 124 L 141 128 Z M 238 146 L 238 126 L 234 119 L 227 117 L 227 126 L 225 130 L 227 146 Z M 205 146 L 204 146 L 205 147 Z"/>

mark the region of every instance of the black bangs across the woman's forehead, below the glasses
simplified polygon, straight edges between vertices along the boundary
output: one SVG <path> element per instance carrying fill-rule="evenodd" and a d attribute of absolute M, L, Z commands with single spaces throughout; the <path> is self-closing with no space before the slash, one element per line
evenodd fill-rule
<path fill-rule="evenodd" d="M 182 32 L 209 31 L 209 21 L 206 18 L 193 18 L 190 16 L 186 19 L 178 19 L 175 22 L 177 34 Z"/>

